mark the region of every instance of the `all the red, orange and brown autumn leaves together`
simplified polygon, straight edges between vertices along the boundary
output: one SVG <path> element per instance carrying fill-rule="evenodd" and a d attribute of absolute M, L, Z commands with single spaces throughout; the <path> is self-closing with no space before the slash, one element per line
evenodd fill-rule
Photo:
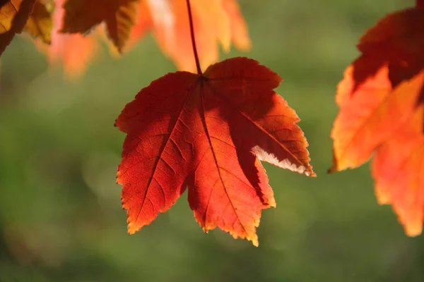
<path fill-rule="evenodd" d="M 315 176 L 300 119 L 274 92 L 280 76 L 244 57 L 217 63 L 219 47 L 251 47 L 236 0 L 0 1 L 0 55 L 24 31 L 69 78 L 84 73 L 102 41 L 119 57 L 148 32 L 179 70 L 144 87 L 115 123 L 126 133 L 117 182 L 129 233 L 188 190 L 204 231 L 218 227 L 258 245 L 261 210 L 276 206 L 261 161 Z M 424 1 L 379 20 L 357 47 L 360 56 L 337 86 L 329 171 L 372 159 L 377 201 L 392 205 L 406 234 L 418 235 Z"/>

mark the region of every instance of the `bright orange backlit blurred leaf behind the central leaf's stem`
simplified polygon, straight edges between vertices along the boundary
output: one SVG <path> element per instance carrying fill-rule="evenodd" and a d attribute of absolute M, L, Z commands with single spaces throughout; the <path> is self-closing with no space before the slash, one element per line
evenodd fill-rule
<path fill-rule="evenodd" d="M 231 43 L 241 50 L 250 48 L 247 25 L 236 0 L 196 0 L 192 1 L 192 6 L 201 66 L 218 61 L 217 42 L 225 52 L 230 51 Z M 140 1 L 128 48 L 134 47 L 148 31 L 153 32 L 160 49 L 175 62 L 179 70 L 195 70 L 185 1 Z"/>

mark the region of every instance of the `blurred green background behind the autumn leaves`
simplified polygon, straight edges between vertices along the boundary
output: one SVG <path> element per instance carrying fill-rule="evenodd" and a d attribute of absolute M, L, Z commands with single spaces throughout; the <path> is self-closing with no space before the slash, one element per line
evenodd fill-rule
<path fill-rule="evenodd" d="M 175 71 L 151 36 L 103 56 L 78 82 L 47 71 L 16 37 L 1 58 L 0 281 L 424 281 L 423 237 L 407 238 L 375 200 L 369 165 L 328 175 L 336 85 L 367 27 L 412 0 L 240 0 L 254 47 L 302 119 L 317 178 L 265 164 L 278 204 L 259 248 L 205 234 L 187 194 L 135 235 L 115 184 L 124 134 L 114 119 Z"/>

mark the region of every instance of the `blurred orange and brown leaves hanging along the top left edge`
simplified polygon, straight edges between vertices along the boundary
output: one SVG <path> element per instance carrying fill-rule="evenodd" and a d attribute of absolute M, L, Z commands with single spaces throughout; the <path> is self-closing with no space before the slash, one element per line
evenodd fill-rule
<path fill-rule="evenodd" d="M 236 0 L 192 2 L 201 66 L 206 68 L 218 60 L 218 43 L 225 52 L 232 43 L 245 51 L 250 48 L 247 25 Z M 61 64 L 69 78 L 84 73 L 101 41 L 109 44 L 116 57 L 139 44 L 148 32 L 179 70 L 195 71 L 184 0 L 6 1 L 0 12 L 0 54 L 13 36 L 22 32 L 23 25 L 49 63 Z"/>

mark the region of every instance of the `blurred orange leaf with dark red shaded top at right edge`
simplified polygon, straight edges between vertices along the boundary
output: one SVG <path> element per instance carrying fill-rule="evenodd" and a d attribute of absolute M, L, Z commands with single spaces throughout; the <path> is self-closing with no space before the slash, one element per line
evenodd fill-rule
<path fill-rule="evenodd" d="M 348 66 L 337 87 L 340 111 L 331 130 L 334 157 L 329 171 L 356 168 L 375 154 L 372 176 L 379 203 L 392 204 L 406 233 L 418 235 L 424 208 L 419 179 L 424 8 L 417 2 L 379 20 L 360 39 L 358 49 L 362 55 Z"/>

